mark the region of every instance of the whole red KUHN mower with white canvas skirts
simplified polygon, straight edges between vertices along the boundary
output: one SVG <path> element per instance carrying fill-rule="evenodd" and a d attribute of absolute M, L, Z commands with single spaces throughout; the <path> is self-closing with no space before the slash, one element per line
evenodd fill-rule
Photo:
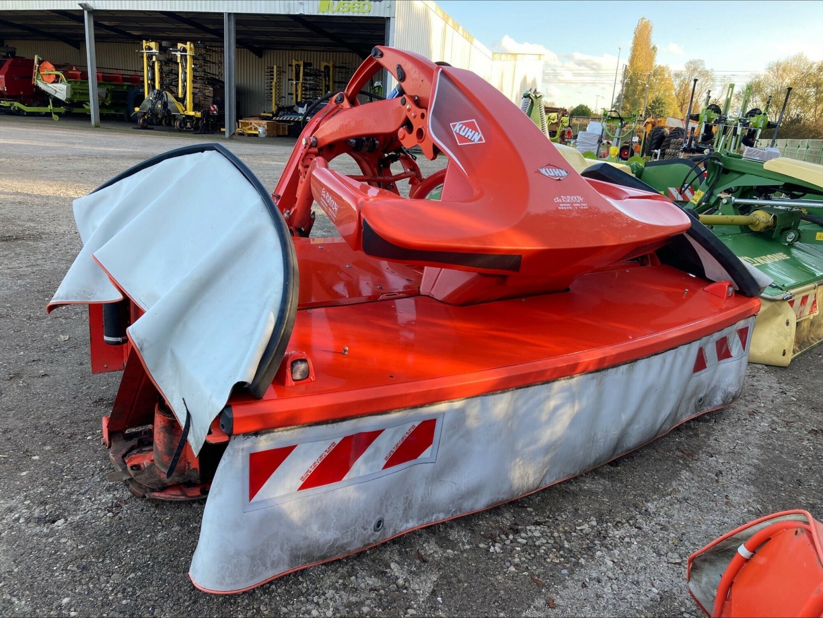
<path fill-rule="evenodd" d="M 391 97 L 358 100 L 384 69 Z M 198 144 L 74 202 L 84 246 L 49 309 L 89 304 L 93 371 L 123 370 L 119 478 L 207 497 L 194 584 L 252 588 L 728 406 L 761 286 L 617 174 L 575 172 L 474 73 L 378 47 L 271 196 Z M 309 236 L 315 202 L 338 237 Z"/>

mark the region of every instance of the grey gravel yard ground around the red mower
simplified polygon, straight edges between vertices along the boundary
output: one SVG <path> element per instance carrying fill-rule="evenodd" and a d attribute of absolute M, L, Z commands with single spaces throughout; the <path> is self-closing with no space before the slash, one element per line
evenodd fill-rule
<path fill-rule="evenodd" d="M 188 580 L 202 504 L 139 500 L 110 471 L 86 314 L 45 304 L 80 249 L 72 198 L 190 143 L 0 116 L 0 614 L 696 616 L 686 557 L 781 509 L 823 517 L 823 353 L 750 365 L 743 396 L 523 500 L 232 597 Z M 293 141 L 229 142 L 273 187 Z"/>

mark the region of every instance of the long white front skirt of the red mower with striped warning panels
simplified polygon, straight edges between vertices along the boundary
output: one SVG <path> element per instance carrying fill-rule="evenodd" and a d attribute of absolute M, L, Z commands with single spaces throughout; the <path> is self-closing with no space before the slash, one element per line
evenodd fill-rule
<path fill-rule="evenodd" d="M 189 574 L 240 592 L 608 462 L 731 403 L 754 323 L 504 393 L 233 436 Z"/>

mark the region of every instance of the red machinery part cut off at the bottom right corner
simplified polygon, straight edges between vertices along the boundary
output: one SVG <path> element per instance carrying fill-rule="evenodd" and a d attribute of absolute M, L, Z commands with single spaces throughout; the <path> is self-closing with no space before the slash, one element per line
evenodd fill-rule
<path fill-rule="evenodd" d="M 746 523 L 689 556 L 689 592 L 713 618 L 820 618 L 821 537 L 823 525 L 802 510 Z"/>

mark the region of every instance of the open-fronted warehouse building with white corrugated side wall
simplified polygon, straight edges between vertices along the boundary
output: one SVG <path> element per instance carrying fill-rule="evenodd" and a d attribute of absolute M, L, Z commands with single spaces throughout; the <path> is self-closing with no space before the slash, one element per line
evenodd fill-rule
<path fill-rule="evenodd" d="M 515 102 L 542 85 L 542 56 L 492 52 L 430 0 L 0 0 L 0 48 L 19 57 L 142 72 L 144 40 L 202 44 L 227 118 L 288 105 L 298 87 L 338 90 L 378 44 L 471 69 Z M 299 84 L 295 67 L 309 68 Z M 373 86 L 388 92 L 392 78 Z"/>

